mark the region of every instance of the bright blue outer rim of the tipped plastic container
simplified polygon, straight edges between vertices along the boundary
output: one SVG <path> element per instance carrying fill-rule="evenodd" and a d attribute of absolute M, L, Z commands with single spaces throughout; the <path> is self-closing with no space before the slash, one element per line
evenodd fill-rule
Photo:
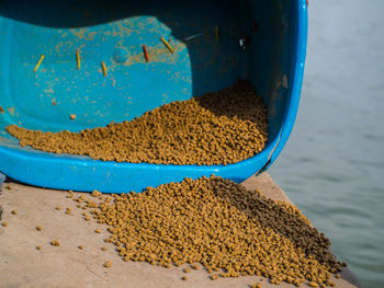
<path fill-rule="evenodd" d="M 304 74 L 304 62 L 307 41 L 307 8 L 305 0 L 293 1 L 297 18 L 294 23 L 298 28 L 293 35 L 296 45 L 296 58 L 293 61 L 292 91 L 289 108 L 284 115 L 280 138 L 276 137 L 259 154 L 236 164 L 197 166 L 197 165 L 157 165 L 147 163 L 103 162 L 74 157 L 55 157 L 50 153 L 20 151 L 0 147 L 2 173 L 11 178 L 31 185 L 57 188 L 87 191 L 99 189 L 103 193 L 142 192 L 147 186 L 177 182 L 185 176 L 197 178 L 203 175 L 219 175 L 241 182 L 255 172 L 268 168 L 280 154 L 292 131 Z M 266 166 L 267 163 L 267 166 Z M 240 177 L 238 175 L 241 175 Z"/>

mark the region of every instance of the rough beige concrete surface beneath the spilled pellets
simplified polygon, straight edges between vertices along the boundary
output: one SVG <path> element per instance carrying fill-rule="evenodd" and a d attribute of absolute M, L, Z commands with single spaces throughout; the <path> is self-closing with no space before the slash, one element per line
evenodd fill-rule
<path fill-rule="evenodd" d="M 244 185 L 259 188 L 262 194 L 278 200 L 289 198 L 284 192 L 263 173 L 250 177 Z M 4 188 L 5 187 L 5 188 Z M 77 194 L 77 193 L 76 193 Z M 4 183 L 0 206 L 3 208 L 0 226 L 0 287 L 249 287 L 261 281 L 262 287 L 295 287 L 268 283 L 257 276 L 238 278 L 218 278 L 211 280 L 202 268 L 184 274 L 181 267 L 169 269 L 151 266 L 147 263 L 123 262 L 114 245 L 105 243 L 106 226 L 98 224 L 93 219 L 81 219 L 82 209 L 66 198 L 64 191 L 31 187 L 18 183 Z M 61 206 L 56 210 L 56 206 Z M 71 215 L 65 209 L 71 207 Z M 16 210 L 16 215 L 11 211 Z M 36 230 L 36 226 L 43 228 Z M 101 229 L 101 233 L 95 233 Z M 60 246 L 50 245 L 58 240 Z M 42 250 L 36 250 L 41 245 Z M 79 250 L 83 245 L 83 250 Z M 106 251 L 101 247 L 106 246 Z M 112 267 L 103 264 L 112 261 Z M 188 280 L 181 277 L 187 275 Z M 358 279 L 346 268 L 340 279 L 332 278 L 336 287 L 360 287 Z M 302 287 L 307 287 L 303 285 Z"/>

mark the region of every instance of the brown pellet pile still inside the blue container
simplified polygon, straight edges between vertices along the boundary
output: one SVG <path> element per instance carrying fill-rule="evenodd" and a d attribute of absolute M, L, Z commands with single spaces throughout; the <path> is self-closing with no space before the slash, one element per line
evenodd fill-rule
<path fill-rule="evenodd" d="M 228 164 L 259 153 L 268 140 L 267 110 L 245 80 L 219 92 L 176 101 L 131 122 L 44 133 L 5 129 L 20 145 L 103 161 L 156 164 Z"/>

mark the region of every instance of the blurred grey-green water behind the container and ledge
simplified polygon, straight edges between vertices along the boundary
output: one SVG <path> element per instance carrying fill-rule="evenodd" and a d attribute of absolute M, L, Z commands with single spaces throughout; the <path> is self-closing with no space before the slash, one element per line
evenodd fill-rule
<path fill-rule="evenodd" d="M 384 0 L 309 0 L 294 130 L 270 169 L 362 287 L 384 287 Z"/>

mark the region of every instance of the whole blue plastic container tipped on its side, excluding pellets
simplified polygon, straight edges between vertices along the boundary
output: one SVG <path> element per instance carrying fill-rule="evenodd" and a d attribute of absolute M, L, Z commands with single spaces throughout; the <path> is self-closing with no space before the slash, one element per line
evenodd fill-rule
<path fill-rule="evenodd" d="M 185 176 L 215 174 L 241 182 L 276 159 L 295 120 L 306 51 L 305 0 L 2 1 L 0 32 L 0 172 L 23 183 L 123 193 Z M 151 55 L 148 64 L 142 45 Z M 131 120 L 239 78 L 250 80 L 264 100 L 269 141 L 262 152 L 236 164 L 103 162 L 22 148 L 4 130 L 16 124 L 79 131 Z"/>

